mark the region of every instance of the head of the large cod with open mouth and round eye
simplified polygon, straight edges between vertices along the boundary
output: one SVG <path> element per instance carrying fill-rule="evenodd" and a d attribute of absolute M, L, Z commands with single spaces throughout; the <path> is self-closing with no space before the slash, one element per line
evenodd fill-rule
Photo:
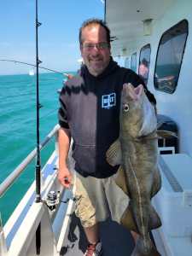
<path fill-rule="evenodd" d="M 124 84 L 121 94 L 120 131 L 130 137 L 141 137 L 156 129 L 156 115 L 148 101 L 143 84 Z"/>

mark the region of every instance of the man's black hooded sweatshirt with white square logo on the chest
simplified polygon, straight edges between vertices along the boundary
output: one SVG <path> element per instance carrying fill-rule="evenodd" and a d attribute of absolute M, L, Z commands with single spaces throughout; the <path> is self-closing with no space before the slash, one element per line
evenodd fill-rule
<path fill-rule="evenodd" d="M 73 137 L 75 170 L 84 177 L 110 177 L 119 166 L 110 166 L 106 151 L 119 137 L 119 108 L 122 85 L 143 84 L 131 69 L 119 67 L 113 60 L 99 76 L 92 76 L 87 67 L 69 79 L 60 95 L 59 124 L 69 128 Z M 155 103 L 154 96 L 146 94 Z"/>

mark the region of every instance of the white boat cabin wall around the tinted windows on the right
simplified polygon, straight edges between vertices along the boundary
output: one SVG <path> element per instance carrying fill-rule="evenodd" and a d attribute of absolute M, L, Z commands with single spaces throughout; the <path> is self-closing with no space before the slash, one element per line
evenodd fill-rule
<path fill-rule="evenodd" d="M 176 90 L 171 94 L 154 88 L 154 70 L 160 38 L 172 26 L 181 20 L 188 22 L 188 35 L 183 51 L 183 60 L 179 72 Z M 175 1 L 171 9 L 160 20 L 154 20 L 152 34 L 143 36 L 127 45 L 128 54 L 115 58 L 120 65 L 131 67 L 131 55 L 137 52 L 137 73 L 140 50 L 150 44 L 151 55 L 148 72 L 148 89 L 157 100 L 158 113 L 173 119 L 179 133 L 179 152 L 192 156 L 192 1 Z M 166 56 L 165 56 L 166 58 Z M 123 63 L 123 64 L 122 64 Z"/>

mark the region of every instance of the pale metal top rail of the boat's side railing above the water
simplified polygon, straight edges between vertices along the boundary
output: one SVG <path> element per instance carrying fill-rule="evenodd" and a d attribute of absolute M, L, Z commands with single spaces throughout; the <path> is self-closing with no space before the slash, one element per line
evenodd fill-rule
<path fill-rule="evenodd" d="M 49 134 L 45 137 L 44 141 L 40 143 L 39 148 L 40 150 L 44 148 L 44 146 L 49 143 L 49 140 L 57 136 L 57 131 L 59 130 L 60 125 L 55 125 L 55 127 L 49 132 Z M 57 139 L 56 139 L 57 141 Z M 26 158 L 20 163 L 19 166 L 15 168 L 13 172 L 7 177 L 3 183 L 0 184 L 0 197 L 3 195 L 3 193 L 9 189 L 9 186 L 11 186 L 14 182 L 15 179 L 20 176 L 20 173 L 23 172 L 28 166 L 28 164 L 35 158 L 37 155 L 37 148 L 34 148 L 30 154 L 26 156 Z"/>

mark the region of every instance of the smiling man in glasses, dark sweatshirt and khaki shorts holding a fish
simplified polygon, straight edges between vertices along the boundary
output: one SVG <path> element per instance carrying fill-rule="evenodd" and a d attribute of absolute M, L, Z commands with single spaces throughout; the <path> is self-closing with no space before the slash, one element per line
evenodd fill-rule
<path fill-rule="evenodd" d="M 89 241 L 84 255 L 98 256 L 102 255 L 98 222 L 108 218 L 108 207 L 119 221 L 128 204 L 125 193 L 113 182 L 119 166 L 109 166 L 106 161 L 106 151 L 119 137 L 121 89 L 125 83 L 137 86 L 143 80 L 113 61 L 110 31 L 102 20 L 84 22 L 79 44 L 84 65 L 79 75 L 67 81 L 60 96 L 58 178 L 66 188 L 73 183 L 74 173 L 67 167 L 73 137 L 75 212 Z M 146 93 L 155 103 L 147 88 Z"/>

